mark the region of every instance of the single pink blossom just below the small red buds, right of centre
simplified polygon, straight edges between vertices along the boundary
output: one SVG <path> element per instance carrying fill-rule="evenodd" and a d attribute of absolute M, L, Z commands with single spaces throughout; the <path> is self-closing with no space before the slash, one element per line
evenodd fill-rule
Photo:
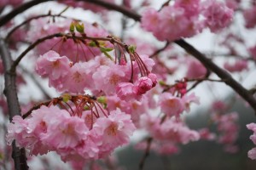
<path fill-rule="evenodd" d="M 160 109 L 167 116 L 178 117 L 184 110 L 182 99 L 172 96 L 172 94 L 160 94 Z"/>

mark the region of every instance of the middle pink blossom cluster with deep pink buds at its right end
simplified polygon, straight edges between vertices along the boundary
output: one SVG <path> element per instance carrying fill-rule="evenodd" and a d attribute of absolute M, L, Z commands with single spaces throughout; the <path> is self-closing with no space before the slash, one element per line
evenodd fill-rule
<path fill-rule="evenodd" d="M 141 56 L 144 65 L 151 70 L 153 59 Z M 132 66 L 131 66 L 132 65 Z M 131 68 L 134 83 L 129 82 Z M 84 94 L 84 90 L 105 95 L 117 94 L 120 99 L 136 98 L 154 88 L 157 77 L 149 73 L 146 77 L 138 77 L 140 68 L 137 63 L 116 65 L 106 56 L 99 55 L 88 62 L 73 63 L 66 56 L 49 51 L 38 58 L 36 71 L 42 77 L 49 77 L 49 86 L 59 92 Z"/>

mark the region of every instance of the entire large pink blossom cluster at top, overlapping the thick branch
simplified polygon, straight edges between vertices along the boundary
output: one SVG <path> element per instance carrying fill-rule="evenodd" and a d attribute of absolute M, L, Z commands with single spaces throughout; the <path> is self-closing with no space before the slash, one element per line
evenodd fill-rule
<path fill-rule="evenodd" d="M 201 20 L 203 18 L 203 20 Z M 192 37 L 208 27 L 217 32 L 229 26 L 233 9 L 225 3 L 207 0 L 178 0 L 157 11 L 147 8 L 143 12 L 142 27 L 152 31 L 160 41 L 174 41 L 180 37 Z"/>

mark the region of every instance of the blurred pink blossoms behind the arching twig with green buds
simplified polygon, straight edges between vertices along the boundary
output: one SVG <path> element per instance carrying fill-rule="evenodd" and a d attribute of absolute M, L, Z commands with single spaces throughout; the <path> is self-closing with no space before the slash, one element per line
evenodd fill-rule
<path fill-rule="evenodd" d="M 32 20 L 30 29 L 27 33 L 26 40 L 28 42 L 35 42 L 39 38 L 49 36 L 55 33 L 67 33 L 69 32 L 70 24 L 73 20 L 57 20 L 54 23 L 48 22 L 49 20 L 39 19 Z M 90 37 L 107 37 L 108 31 L 105 31 L 100 26 L 91 25 L 84 22 L 84 33 Z M 60 55 L 67 56 L 68 59 L 73 62 L 79 60 L 89 60 L 95 57 L 95 55 L 101 54 L 99 48 L 90 45 L 89 40 L 85 42 L 74 41 L 73 39 L 67 39 L 63 37 L 54 37 L 50 40 L 46 40 L 36 47 L 38 54 L 45 54 L 50 49 L 57 51 Z M 106 42 L 104 47 L 113 47 L 111 43 Z"/>

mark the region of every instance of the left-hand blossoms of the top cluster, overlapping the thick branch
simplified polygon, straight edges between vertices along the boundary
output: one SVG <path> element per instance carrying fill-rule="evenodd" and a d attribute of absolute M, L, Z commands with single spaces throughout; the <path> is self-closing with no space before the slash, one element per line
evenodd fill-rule
<path fill-rule="evenodd" d="M 195 25 L 196 18 L 189 18 L 185 11 L 185 8 L 178 6 L 165 6 L 160 12 L 148 8 L 143 13 L 142 27 L 146 31 L 152 31 L 160 41 L 192 37 L 200 31 L 200 24 Z"/>

